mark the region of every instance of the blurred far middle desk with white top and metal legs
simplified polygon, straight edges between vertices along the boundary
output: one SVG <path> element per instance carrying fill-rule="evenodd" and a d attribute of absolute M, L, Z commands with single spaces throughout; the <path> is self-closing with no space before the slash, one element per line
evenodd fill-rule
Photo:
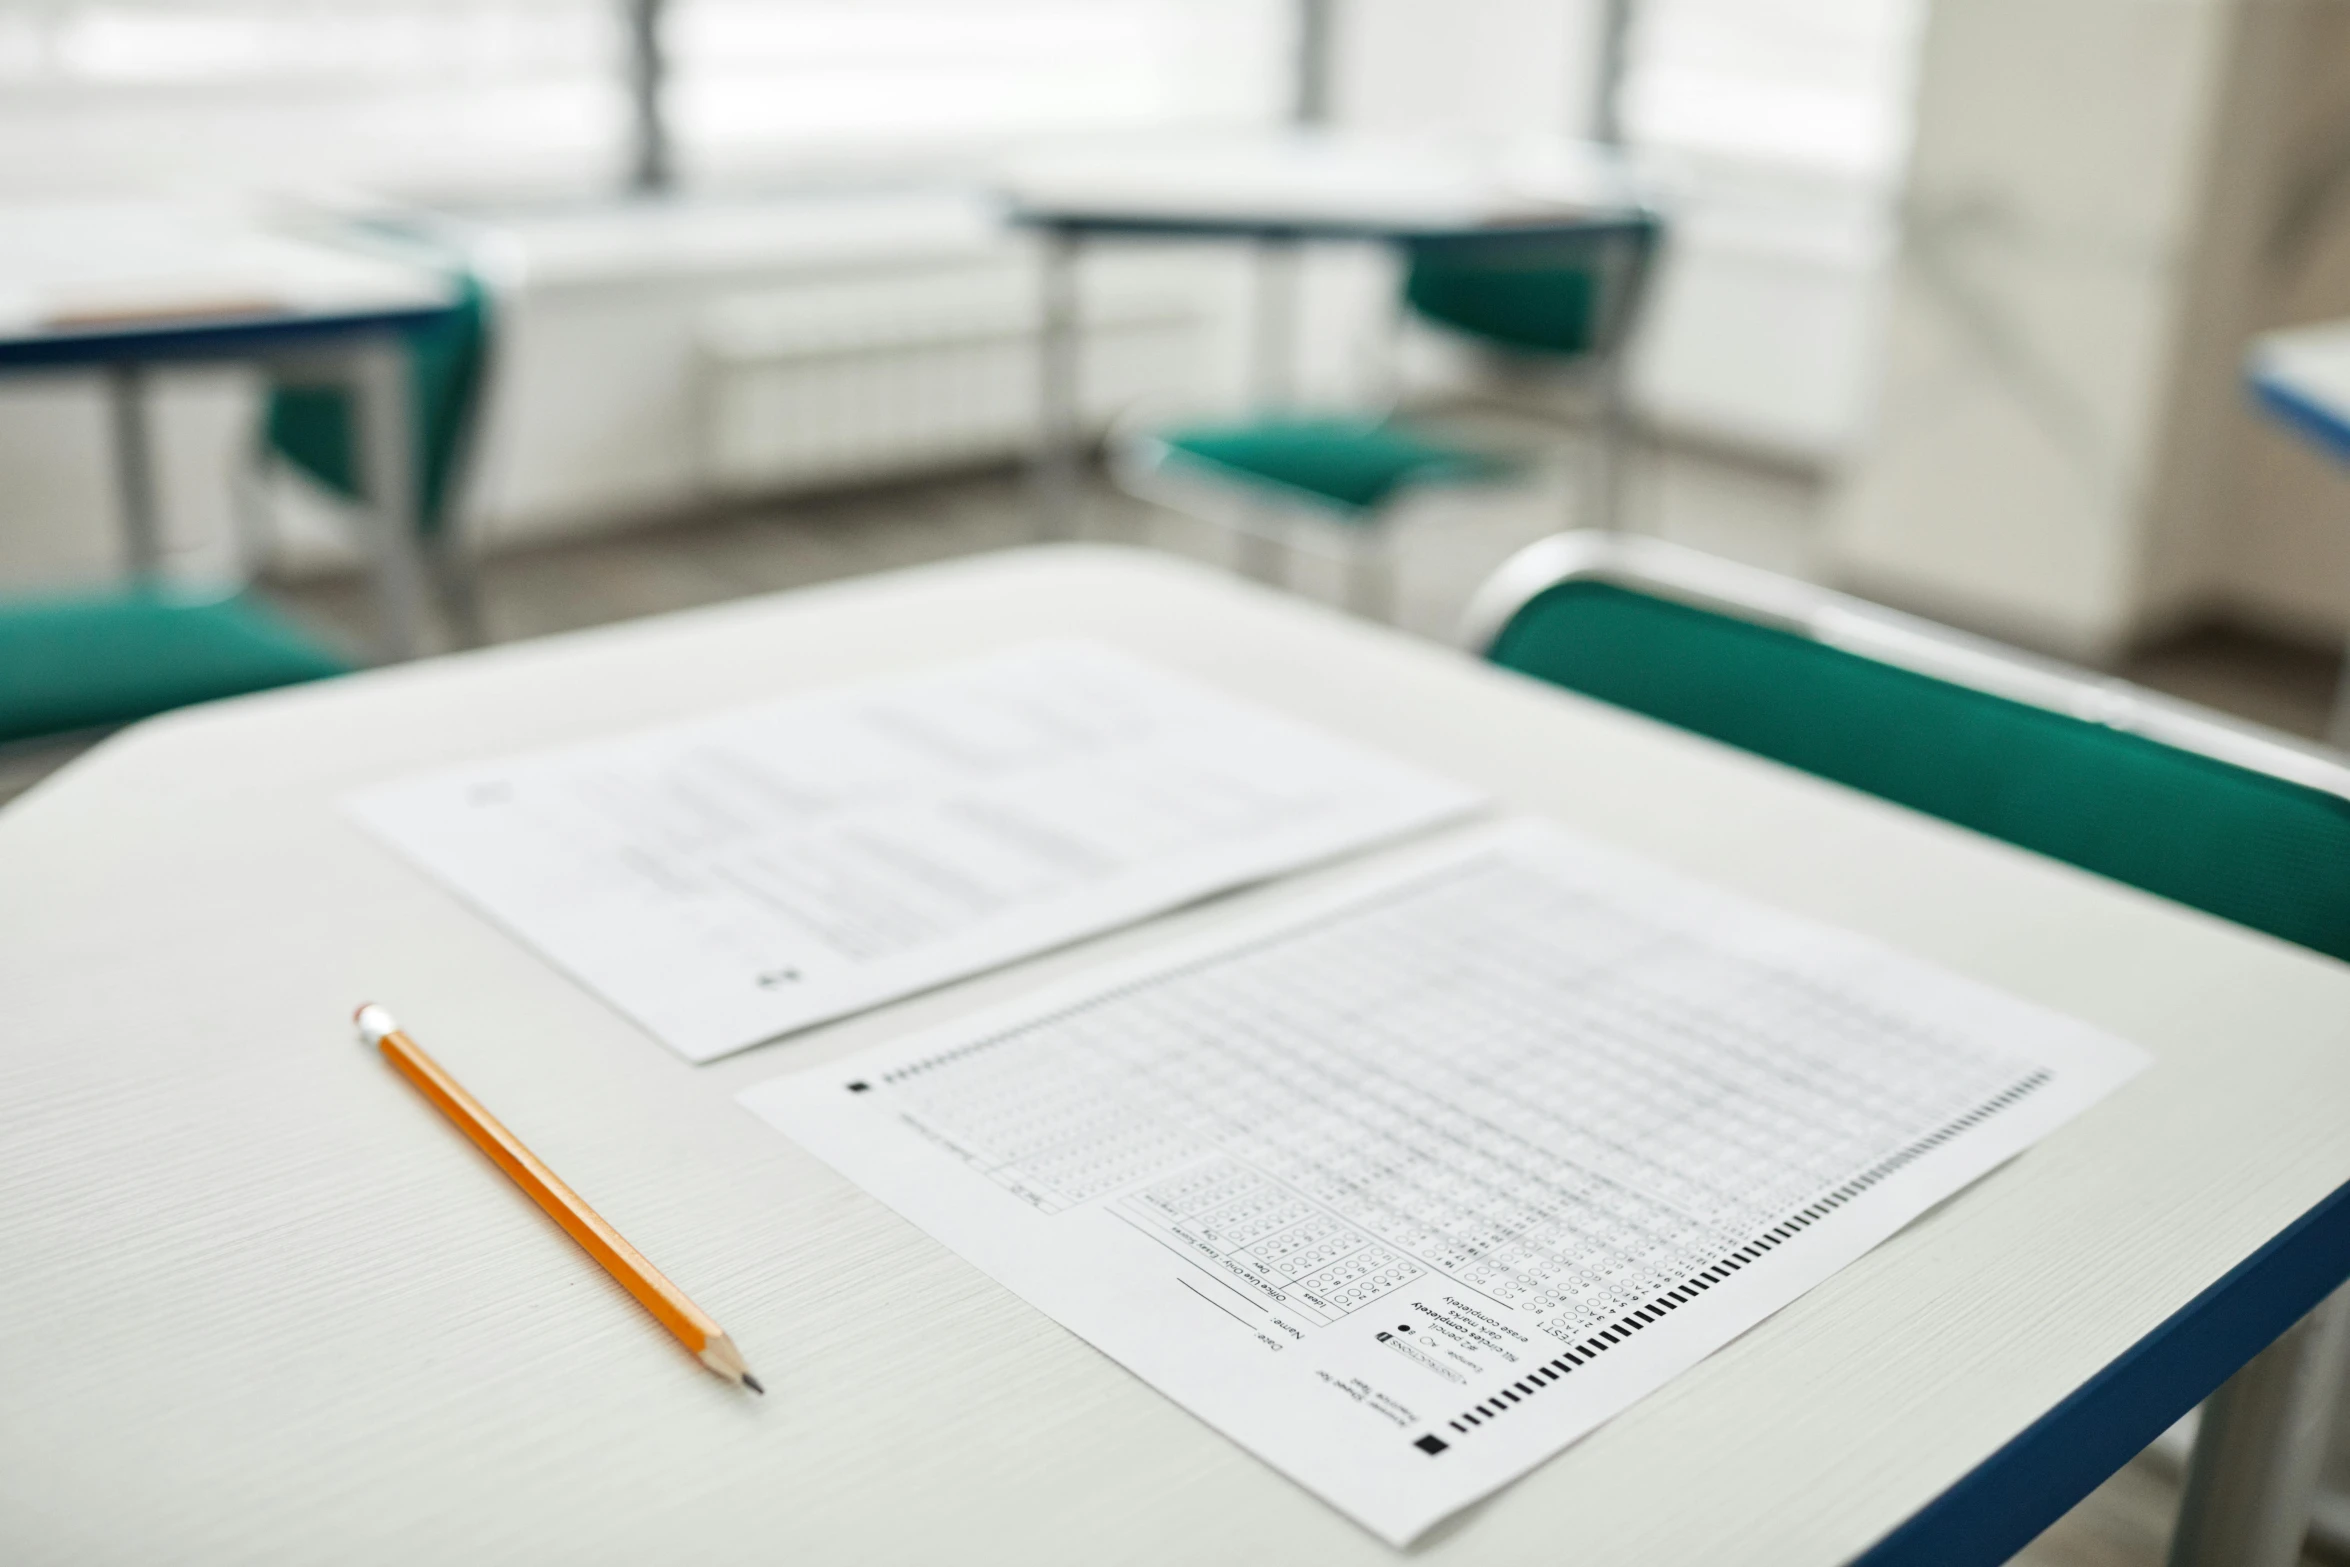
<path fill-rule="evenodd" d="M 1013 169 L 1010 221 L 1043 235 L 1039 505 L 1046 538 L 1076 533 L 1079 247 L 1093 237 L 1243 240 L 1257 247 L 1253 385 L 1295 392 L 1297 251 L 1311 240 L 1565 240 L 1647 235 L 1657 214 L 1622 160 L 1577 141 L 1464 143 L 1332 132 L 1187 139 L 1058 153 Z M 1633 265 L 1624 247 L 1622 265 Z"/>

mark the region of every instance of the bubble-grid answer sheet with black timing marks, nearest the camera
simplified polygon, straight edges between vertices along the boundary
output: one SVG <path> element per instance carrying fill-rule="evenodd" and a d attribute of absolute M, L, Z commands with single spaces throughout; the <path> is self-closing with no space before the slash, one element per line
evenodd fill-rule
<path fill-rule="evenodd" d="M 743 1104 L 1403 1546 L 2141 1064 L 1509 825 Z"/>

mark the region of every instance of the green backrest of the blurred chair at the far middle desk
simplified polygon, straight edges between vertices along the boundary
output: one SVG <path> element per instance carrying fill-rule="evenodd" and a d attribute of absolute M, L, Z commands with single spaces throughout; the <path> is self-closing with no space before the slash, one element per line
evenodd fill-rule
<path fill-rule="evenodd" d="M 1614 348 L 1631 317 L 1654 228 L 1572 240 L 1426 240 L 1403 298 L 1422 317 L 1516 355 Z"/>

